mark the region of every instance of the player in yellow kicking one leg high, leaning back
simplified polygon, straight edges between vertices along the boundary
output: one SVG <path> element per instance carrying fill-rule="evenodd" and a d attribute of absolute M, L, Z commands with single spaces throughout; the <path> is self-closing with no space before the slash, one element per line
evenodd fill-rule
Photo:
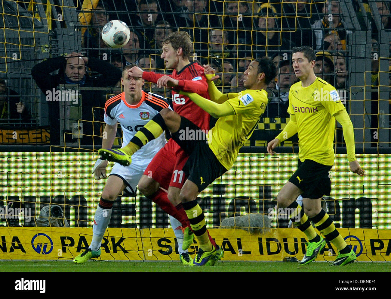
<path fill-rule="evenodd" d="M 165 129 L 170 130 L 172 138 L 189 154 L 183 168 L 184 174 L 178 174 L 187 178 L 179 198 L 199 244 L 199 252 L 193 261 L 193 264 L 198 266 L 214 265 L 217 254 L 210 243 L 204 214 L 197 203 L 197 195 L 230 169 L 240 147 L 250 138 L 265 111 L 268 102 L 265 89 L 276 77 L 276 67 L 273 61 L 266 57 L 252 61 L 244 72 L 243 82 L 247 89 L 228 94 L 222 94 L 216 88 L 212 80 L 218 76 L 212 74 L 210 67 L 206 66 L 204 72 L 208 78 L 210 100 L 191 92 L 179 93 L 188 96 L 204 111 L 218 118 L 215 127 L 209 132 L 204 132 L 174 111 L 163 109 L 143 127 L 143 130 L 135 134 L 129 144 L 120 150 L 120 154 L 115 153 L 118 150 L 99 150 L 104 159 L 118 163 L 129 161 L 130 155 L 140 149 L 138 144 L 145 145 L 157 138 Z"/>

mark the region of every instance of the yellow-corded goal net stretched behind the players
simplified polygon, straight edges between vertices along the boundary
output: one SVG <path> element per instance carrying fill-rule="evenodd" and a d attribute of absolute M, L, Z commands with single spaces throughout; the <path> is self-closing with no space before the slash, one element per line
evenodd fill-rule
<path fill-rule="evenodd" d="M 335 86 L 350 115 L 356 157 L 367 172 L 359 177 L 350 171 L 342 127 L 336 124 L 327 212 L 359 260 L 390 261 L 388 3 L 138 2 L 2 2 L 0 259 L 71 259 L 88 248 L 106 183 L 91 174 L 104 138 L 104 104 L 123 91 L 118 72 L 127 64 L 170 74 L 160 58 L 161 43 L 179 30 L 194 42 L 190 61 L 212 65 L 224 93 L 244 90 L 243 72 L 252 59 L 269 56 L 278 69 L 267 89 L 269 105 L 235 164 L 198 196 L 226 259 L 277 261 L 305 252 L 304 234 L 288 228 L 289 219 L 276 202 L 297 169 L 298 138 L 285 141 L 274 156 L 265 145 L 289 121 L 288 92 L 297 81 L 291 49 L 308 45 L 316 52 L 317 76 Z M 127 23 L 131 40 L 110 49 L 100 31 L 117 19 Z M 73 52 L 88 58 L 86 74 L 99 83 L 57 80 L 66 74 L 65 58 Z M 146 82 L 143 89 L 171 100 L 171 91 L 154 83 Z M 121 144 L 118 126 L 114 146 Z M 109 163 L 107 174 L 112 167 Z M 54 205 L 63 213 L 59 227 L 37 227 L 41 210 Z M 230 217 L 234 224 L 222 225 Z M 103 260 L 179 259 L 169 216 L 138 190 L 114 201 L 102 248 Z M 197 250 L 195 243 L 190 251 Z M 334 255 L 331 244 L 321 253 L 327 261 Z"/>

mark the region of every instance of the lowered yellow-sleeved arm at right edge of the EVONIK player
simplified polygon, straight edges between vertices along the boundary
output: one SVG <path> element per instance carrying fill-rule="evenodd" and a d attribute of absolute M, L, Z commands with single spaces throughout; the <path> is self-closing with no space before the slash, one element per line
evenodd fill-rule
<path fill-rule="evenodd" d="M 353 124 L 350 120 L 348 112 L 342 110 L 334 115 L 335 119 L 341 124 L 343 137 L 346 142 L 346 153 L 348 154 L 348 161 L 350 169 L 359 176 L 365 176 L 365 171 L 361 169 L 359 163 L 355 157 L 355 144 L 354 144 L 354 132 Z"/>

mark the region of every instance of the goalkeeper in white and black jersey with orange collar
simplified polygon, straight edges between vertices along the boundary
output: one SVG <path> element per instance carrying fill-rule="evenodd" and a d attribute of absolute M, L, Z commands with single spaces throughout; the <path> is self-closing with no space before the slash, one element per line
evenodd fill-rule
<path fill-rule="evenodd" d="M 162 109 L 169 108 L 169 104 L 165 98 L 142 90 L 142 86 L 144 85 L 142 78 L 134 78 L 127 74 L 128 70 L 133 66 L 127 65 L 122 71 L 121 84 L 124 86 L 124 92 L 113 96 L 105 104 L 104 121 L 106 122 L 106 127 L 103 132 L 102 149 L 111 149 L 113 146 L 118 122 L 123 132 L 122 146 L 125 146 L 149 120 Z M 130 194 L 134 194 L 136 185 L 147 165 L 165 143 L 165 136 L 161 134 L 133 155 L 131 165 L 122 166 L 115 163 L 95 211 L 93 236 L 90 246 L 74 258 L 74 263 L 85 263 L 88 259 L 100 256 L 100 245 L 104 232 L 110 222 L 114 200 L 125 188 Z M 93 168 L 95 179 L 106 178 L 107 163 L 108 161 L 102 159 L 96 161 Z M 165 210 L 164 207 L 162 208 Z M 182 250 L 181 241 L 183 241 L 183 233 L 178 229 L 179 221 L 174 217 L 170 217 L 170 222 L 177 237 L 180 259 L 182 263 L 186 264 L 187 260 L 190 261 L 190 259 L 185 258 L 186 255 L 188 257 L 187 250 Z"/>

